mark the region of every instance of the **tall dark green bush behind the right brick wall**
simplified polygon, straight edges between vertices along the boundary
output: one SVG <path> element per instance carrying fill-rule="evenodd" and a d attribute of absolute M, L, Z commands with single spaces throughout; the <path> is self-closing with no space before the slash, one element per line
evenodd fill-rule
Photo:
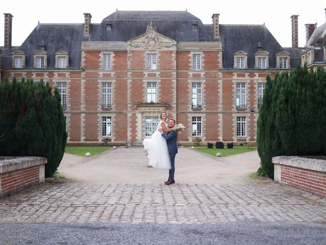
<path fill-rule="evenodd" d="M 257 121 L 261 166 L 274 178 L 274 156 L 325 155 L 326 72 L 297 66 L 267 76 Z"/>

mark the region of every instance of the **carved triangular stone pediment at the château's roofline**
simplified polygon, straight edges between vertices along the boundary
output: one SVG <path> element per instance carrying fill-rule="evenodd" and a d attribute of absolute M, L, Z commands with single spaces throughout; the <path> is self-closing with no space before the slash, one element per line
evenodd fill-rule
<path fill-rule="evenodd" d="M 150 51 L 162 48 L 174 50 L 177 42 L 150 29 L 149 32 L 128 41 L 127 45 L 131 48 Z"/>

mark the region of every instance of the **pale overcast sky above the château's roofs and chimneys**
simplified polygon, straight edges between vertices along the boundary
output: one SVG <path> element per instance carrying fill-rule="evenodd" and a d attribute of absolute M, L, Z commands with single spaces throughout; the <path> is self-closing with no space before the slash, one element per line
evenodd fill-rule
<path fill-rule="evenodd" d="M 214 3 L 214 4 L 213 4 Z M 12 45 L 20 46 L 40 23 L 84 23 L 84 13 L 91 13 L 92 23 L 118 10 L 186 10 L 200 18 L 204 24 L 211 24 L 213 13 L 220 14 L 221 24 L 263 24 L 283 47 L 291 44 L 291 15 L 298 17 L 299 46 L 306 44 L 306 23 L 325 23 L 324 0 L 299 2 L 292 0 L 256 1 L 100 1 L 80 0 L 12 0 L 2 1 L 2 13 L 13 17 Z M 0 18 L 0 46 L 4 45 L 4 15 Z"/>

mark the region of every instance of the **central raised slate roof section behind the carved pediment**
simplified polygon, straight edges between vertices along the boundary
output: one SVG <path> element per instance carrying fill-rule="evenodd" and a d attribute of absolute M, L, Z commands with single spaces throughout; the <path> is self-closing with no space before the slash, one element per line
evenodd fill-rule
<path fill-rule="evenodd" d="M 144 34 L 150 21 L 158 33 L 179 42 L 213 40 L 202 21 L 187 11 L 116 11 L 100 24 L 91 24 L 90 41 L 128 41 Z M 106 30 L 107 24 L 111 30 Z"/>

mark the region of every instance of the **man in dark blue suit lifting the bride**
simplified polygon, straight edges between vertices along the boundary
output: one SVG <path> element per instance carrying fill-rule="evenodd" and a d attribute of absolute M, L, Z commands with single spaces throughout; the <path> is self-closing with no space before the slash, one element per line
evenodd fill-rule
<path fill-rule="evenodd" d="M 175 119 L 170 118 L 168 127 L 171 129 L 174 126 L 175 126 Z M 175 181 L 174 181 L 174 159 L 175 159 L 175 155 L 178 153 L 178 145 L 177 145 L 178 133 L 176 130 L 172 130 L 169 133 L 164 133 L 162 129 L 159 129 L 158 131 L 161 132 L 162 137 L 164 137 L 167 140 L 170 161 L 171 161 L 171 169 L 169 170 L 169 180 L 164 183 L 166 185 L 171 185 L 171 184 L 175 183 Z"/>

